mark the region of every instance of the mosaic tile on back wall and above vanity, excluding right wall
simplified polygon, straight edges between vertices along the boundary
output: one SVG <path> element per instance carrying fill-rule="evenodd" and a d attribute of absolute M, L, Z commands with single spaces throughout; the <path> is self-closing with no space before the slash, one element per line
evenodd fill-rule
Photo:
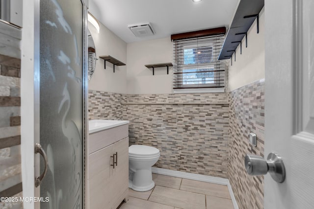
<path fill-rule="evenodd" d="M 155 166 L 227 178 L 226 93 L 116 94 L 89 91 L 89 118 L 130 120 L 130 144 L 157 147 Z"/>

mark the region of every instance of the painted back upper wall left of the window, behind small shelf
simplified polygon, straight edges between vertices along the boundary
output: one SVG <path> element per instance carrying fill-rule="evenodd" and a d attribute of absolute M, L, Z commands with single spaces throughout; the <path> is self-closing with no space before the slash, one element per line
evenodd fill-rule
<path fill-rule="evenodd" d="M 173 93 L 172 68 L 148 69 L 145 65 L 172 62 L 170 37 L 130 43 L 127 46 L 127 93 Z"/>

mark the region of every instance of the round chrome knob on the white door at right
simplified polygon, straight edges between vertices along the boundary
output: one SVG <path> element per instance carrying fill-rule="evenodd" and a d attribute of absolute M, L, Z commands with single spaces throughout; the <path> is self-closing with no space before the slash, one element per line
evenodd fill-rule
<path fill-rule="evenodd" d="M 280 155 L 269 153 L 267 161 L 260 156 L 246 155 L 244 159 L 246 172 L 251 176 L 265 175 L 269 172 L 276 182 L 283 183 L 286 179 L 286 169 Z"/>

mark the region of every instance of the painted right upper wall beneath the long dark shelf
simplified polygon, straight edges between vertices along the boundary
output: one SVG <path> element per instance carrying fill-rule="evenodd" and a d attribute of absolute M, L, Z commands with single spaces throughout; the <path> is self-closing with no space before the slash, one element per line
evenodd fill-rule
<path fill-rule="evenodd" d="M 255 20 L 247 33 L 247 48 L 244 37 L 242 39 L 242 54 L 240 54 L 240 46 L 238 46 L 235 55 L 232 56 L 232 66 L 231 60 L 229 60 L 229 91 L 265 78 L 264 8 L 262 8 L 259 17 L 259 33 L 256 31 L 257 21 Z"/>

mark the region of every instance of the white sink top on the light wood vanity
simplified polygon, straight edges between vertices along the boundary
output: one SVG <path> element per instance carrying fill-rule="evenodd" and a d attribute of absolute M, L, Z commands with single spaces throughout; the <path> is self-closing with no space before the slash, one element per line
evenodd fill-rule
<path fill-rule="evenodd" d="M 102 120 L 102 119 L 95 119 L 88 121 L 88 131 L 89 134 L 102 131 L 109 128 L 114 128 L 117 126 L 128 124 L 129 120 Z"/>

